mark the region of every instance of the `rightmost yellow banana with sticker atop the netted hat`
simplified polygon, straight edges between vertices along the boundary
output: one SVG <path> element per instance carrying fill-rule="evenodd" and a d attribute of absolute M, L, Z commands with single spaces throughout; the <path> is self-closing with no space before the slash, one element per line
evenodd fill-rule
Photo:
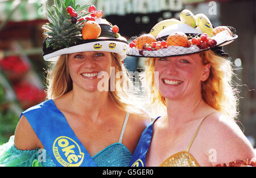
<path fill-rule="evenodd" d="M 212 23 L 208 17 L 204 14 L 196 14 L 195 15 L 197 25 L 200 27 L 203 33 L 207 33 L 208 36 L 213 36 L 213 27 Z"/>

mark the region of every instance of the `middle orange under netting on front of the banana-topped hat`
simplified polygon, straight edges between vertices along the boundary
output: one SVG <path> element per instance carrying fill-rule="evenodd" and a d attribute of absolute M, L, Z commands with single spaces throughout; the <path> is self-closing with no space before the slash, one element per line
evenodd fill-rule
<path fill-rule="evenodd" d="M 188 37 L 183 32 L 174 32 L 167 37 L 167 46 L 188 46 Z"/>

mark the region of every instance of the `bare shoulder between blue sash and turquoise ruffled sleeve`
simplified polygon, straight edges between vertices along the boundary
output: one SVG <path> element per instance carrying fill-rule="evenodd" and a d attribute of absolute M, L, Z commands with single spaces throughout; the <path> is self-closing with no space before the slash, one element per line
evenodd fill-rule
<path fill-rule="evenodd" d="M 34 150 L 43 148 L 27 118 L 23 115 L 15 130 L 14 145 L 19 150 Z"/>

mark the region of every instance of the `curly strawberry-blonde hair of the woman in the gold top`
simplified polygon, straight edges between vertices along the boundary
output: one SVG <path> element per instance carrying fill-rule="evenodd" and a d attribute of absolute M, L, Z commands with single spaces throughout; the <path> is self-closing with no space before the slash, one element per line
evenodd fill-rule
<path fill-rule="evenodd" d="M 201 95 L 205 103 L 225 115 L 238 116 L 238 90 L 234 87 L 232 63 L 226 58 L 216 56 L 212 50 L 201 52 L 203 64 L 210 63 L 210 74 L 207 80 L 201 82 Z M 155 58 L 145 61 L 144 84 L 150 96 L 151 109 L 166 112 L 166 100 L 155 86 Z"/>

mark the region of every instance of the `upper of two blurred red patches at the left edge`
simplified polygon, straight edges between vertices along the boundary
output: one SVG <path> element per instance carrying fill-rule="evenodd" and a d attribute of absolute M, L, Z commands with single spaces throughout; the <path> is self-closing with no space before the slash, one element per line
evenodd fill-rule
<path fill-rule="evenodd" d="M 25 63 L 19 56 L 9 56 L 0 60 L 0 66 L 3 70 L 13 71 L 17 74 L 26 73 L 29 65 Z"/>

